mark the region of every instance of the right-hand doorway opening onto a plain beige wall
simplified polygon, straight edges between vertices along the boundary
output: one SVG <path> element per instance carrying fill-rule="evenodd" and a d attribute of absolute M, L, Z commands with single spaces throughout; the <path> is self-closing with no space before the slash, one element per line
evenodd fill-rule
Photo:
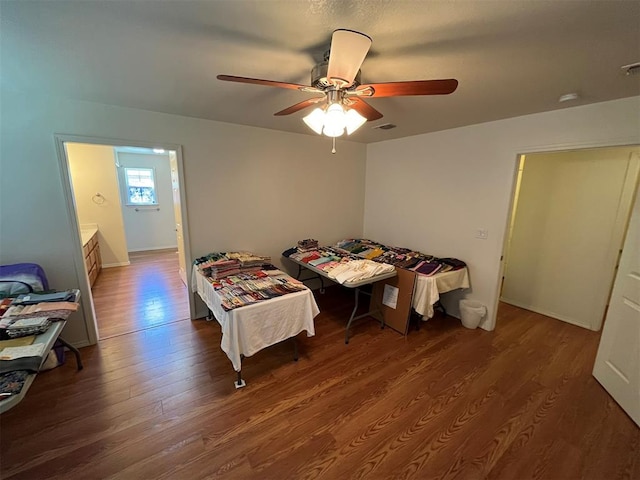
<path fill-rule="evenodd" d="M 502 302 L 601 328 L 638 184 L 639 152 L 612 147 L 520 158 Z"/>

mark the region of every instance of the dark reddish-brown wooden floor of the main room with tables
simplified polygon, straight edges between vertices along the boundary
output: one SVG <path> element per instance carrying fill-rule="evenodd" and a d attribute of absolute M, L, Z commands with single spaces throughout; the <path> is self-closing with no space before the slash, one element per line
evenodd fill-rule
<path fill-rule="evenodd" d="M 495 332 L 436 317 L 405 339 L 352 292 L 317 294 L 316 336 L 243 362 L 220 327 L 103 340 L 3 414 L 3 479 L 638 479 L 640 429 L 591 376 L 599 334 L 502 305 Z"/>

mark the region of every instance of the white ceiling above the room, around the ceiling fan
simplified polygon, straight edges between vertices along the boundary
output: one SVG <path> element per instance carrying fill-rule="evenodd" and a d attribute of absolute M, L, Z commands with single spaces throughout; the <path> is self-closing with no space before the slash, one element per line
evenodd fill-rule
<path fill-rule="evenodd" d="M 0 0 L 0 22 L 10 88 L 309 135 L 309 110 L 273 114 L 311 94 L 216 75 L 309 84 L 348 28 L 373 39 L 363 83 L 458 79 L 368 100 L 384 117 L 363 143 L 640 95 L 620 68 L 640 61 L 640 1 Z"/>

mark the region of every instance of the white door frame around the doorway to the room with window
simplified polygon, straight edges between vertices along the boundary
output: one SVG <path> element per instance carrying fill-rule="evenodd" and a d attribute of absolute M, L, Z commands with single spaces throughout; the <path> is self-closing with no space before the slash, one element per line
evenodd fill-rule
<path fill-rule="evenodd" d="M 187 199 L 186 188 L 184 183 L 184 162 L 182 159 L 182 145 L 170 144 L 170 143 L 150 143 L 139 140 L 123 140 L 107 137 L 93 137 L 82 135 L 66 135 L 66 134 L 54 134 L 56 153 L 58 156 L 58 164 L 60 167 L 60 175 L 62 180 L 62 188 L 65 197 L 65 203 L 67 205 L 67 218 L 69 220 L 70 228 L 76 232 L 72 235 L 73 239 L 73 267 L 76 273 L 78 288 L 80 289 L 81 296 L 80 301 L 82 303 L 83 310 L 85 312 L 85 326 L 87 330 L 87 336 L 91 345 L 98 343 L 98 327 L 96 323 L 96 314 L 93 307 L 93 298 L 91 295 L 91 286 L 89 285 L 89 278 L 85 272 L 84 255 L 82 253 L 82 240 L 80 238 L 80 225 L 78 224 L 78 212 L 76 210 L 73 184 L 71 180 L 71 172 L 69 169 L 69 159 L 67 158 L 67 152 L 65 149 L 65 143 L 85 143 L 90 145 L 103 145 L 110 147 L 140 147 L 140 148 L 163 148 L 165 150 L 173 150 L 176 152 L 178 163 L 178 185 L 180 189 L 180 209 L 182 212 L 182 230 L 183 230 L 183 250 L 185 257 L 188 261 L 191 261 L 191 249 L 189 240 L 189 223 L 187 216 Z M 195 303 L 193 295 L 191 295 L 191 279 L 187 275 L 187 298 L 189 302 L 189 316 L 193 320 L 195 318 Z"/>

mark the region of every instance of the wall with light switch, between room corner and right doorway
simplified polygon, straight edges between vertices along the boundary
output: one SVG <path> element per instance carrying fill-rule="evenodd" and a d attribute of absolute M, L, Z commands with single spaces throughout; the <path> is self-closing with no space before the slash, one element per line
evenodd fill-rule
<path fill-rule="evenodd" d="M 443 303 L 456 316 L 462 296 L 484 303 L 493 329 L 518 154 L 639 141 L 633 97 L 370 144 L 364 236 L 467 262 L 471 291 Z"/>

